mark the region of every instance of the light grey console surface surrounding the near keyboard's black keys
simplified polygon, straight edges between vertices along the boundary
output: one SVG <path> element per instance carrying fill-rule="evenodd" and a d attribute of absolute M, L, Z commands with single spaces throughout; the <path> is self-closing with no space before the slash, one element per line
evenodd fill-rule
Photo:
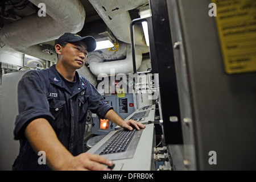
<path fill-rule="evenodd" d="M 122 130 L 115 130 L 106 135 L 87 152 L 99 155 L 106 146 Z M 152 160 L 153 148 L 155 147 L 154 124 L 146 125 L 145 129 L 136 130 L 130 144 L 123 152 L 102 154 L 101 156 L 113 160 L 115 167 L 113 171 L 154 171 L 155 163 Z"/>

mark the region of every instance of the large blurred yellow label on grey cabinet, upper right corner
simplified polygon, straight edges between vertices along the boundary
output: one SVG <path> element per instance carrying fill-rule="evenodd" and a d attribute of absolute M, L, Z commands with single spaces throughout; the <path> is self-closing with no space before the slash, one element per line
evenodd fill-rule
<path fill-rule="evenodd" d="M 212 0 L 226 73 L 256 71 L 256 1 Z"/>

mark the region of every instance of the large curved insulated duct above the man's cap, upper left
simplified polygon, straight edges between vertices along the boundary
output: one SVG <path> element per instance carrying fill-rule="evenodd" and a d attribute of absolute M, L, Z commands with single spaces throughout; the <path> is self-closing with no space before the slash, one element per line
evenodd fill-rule
<path fill-rule="evenodd" d="M 3 43 L 16 51 L 45 60 L 55 60 L 56 55 L 42 52 L 38 44 L 55 40 L 65 32 L 77 33 L 85 22 L 85 10 L 79 0 L 30 0 L 34 5 L 46 5 L 46 16 L 32 14 L 6 24 L 0 30 Z M 37 45 L 37 46 L 35 46 Z"/>

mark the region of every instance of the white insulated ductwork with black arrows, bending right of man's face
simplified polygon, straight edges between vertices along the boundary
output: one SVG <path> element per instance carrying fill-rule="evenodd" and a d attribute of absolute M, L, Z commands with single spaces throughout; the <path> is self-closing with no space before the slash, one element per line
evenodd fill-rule
<path fill-rule="evenodd" d="M 89 2 L 112 31 L 115 38 L 119 40 L 119 43 L 123 42 L 123 44 L 126 45 L 122 46 L 122 44 L 120 44 L 117 52 L 109 52 L 108 49 L 104 49 L 101 50 L 101 53 L 99 53 L 99 51 L 89 53 L 87 62 L 89 63 L 90 71 L 95 76 L 100 75 L 100 73 L 112 75 L 113 71 L 115 75 L 118 73 L 133 73 L 130 32 L 131 17 L 129 10 L 136 9 L 139 6 L 148 3 L 148 0 L 89 0 Z M 142 54 L 148 52 L 148 47 L 141 27 L 134 27 L 134 38 L 136 45 L 136 66 L 139 68 L 142 63 Z M 126 52 L 125 58 L 121 57 L 120 60 L 115 59 L 116 55 L 122 55 L 123 52 Z"/>

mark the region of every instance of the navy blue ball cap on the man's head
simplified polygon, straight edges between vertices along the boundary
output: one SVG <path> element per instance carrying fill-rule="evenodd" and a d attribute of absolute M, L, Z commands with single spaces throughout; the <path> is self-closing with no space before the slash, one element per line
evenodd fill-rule
<path fill-rule="evenodd" d="M 80 35 L 73 34 L 70 32 L 61 35 L 59 39 L 55 41 L 56 44 L 62 45 L 64 42 L 72 43 L 72 42 L 79 42 L 83 41 L 87 46 L 87 51 L 92 52 L 96 49 L 96 40 L 92 36 L 84 36 L 81 37 Z"/>

